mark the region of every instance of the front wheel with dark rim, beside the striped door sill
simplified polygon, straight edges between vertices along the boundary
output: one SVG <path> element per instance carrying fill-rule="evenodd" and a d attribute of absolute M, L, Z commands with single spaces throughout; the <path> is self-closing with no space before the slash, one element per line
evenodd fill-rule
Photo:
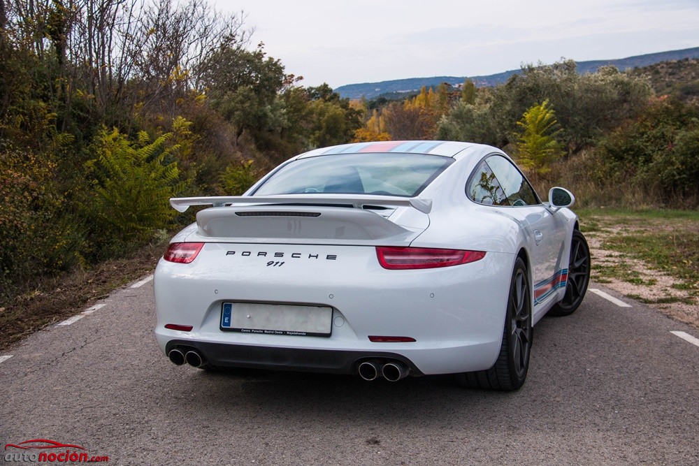
<path fill-rule="evenodd" d="M 570 239 L 570 259 L 568 261 L 568 282 L 565 295 L 549 310 L 549 316 L 569 316 L 582 303 L 590 283 L 590 248 L 585 236 L 577 230 Z"/>

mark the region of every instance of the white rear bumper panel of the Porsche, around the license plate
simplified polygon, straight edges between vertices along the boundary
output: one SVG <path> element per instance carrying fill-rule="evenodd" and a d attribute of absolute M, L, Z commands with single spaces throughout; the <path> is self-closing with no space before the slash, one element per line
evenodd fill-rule
<path fill-rule="evenodd" d="M 161 260 L 154 279 L 161 351 L 179 344 L 199 349 L 215 366 L 340 374 L 352 374 L 357 361 L 370 358 L 403 361 L 414 374 L 483 370 L 496 361 L 511 254 L 489 252 L 447 268 L 385 270 L 373 247 L 282 248 L 209 243 L 194 263 Z M 278 250 L 283 258 L 274 257 Z M 276 261 L 285 263 L 278 267 Z M 331 307 L 331 335 L 222 331 L 222 303 L 231 302 Z M 168 323 L 192 330 L 169 330 Z M 416 341 L 372 342 L 370 335 Z"/>

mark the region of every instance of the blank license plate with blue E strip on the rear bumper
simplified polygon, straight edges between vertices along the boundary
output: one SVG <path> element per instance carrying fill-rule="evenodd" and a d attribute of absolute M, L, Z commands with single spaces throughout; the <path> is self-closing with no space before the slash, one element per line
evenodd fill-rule
<path fill-rule="evenodd" d="M 221 330 L 259 335 L 329 337 L 331 307 L 285 304 L 223 303 Z"/>

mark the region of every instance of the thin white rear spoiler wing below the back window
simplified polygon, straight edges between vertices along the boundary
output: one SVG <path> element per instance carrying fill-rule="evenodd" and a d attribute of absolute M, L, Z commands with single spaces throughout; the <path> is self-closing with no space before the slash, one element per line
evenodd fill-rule
<path fill-rule="evenodd" d="M 365 205 L 390 205 L 394 207 L 413 207 L 424 214 L 428 214 L 432 210 L 431 199 L 361 194 L 282 194 L 278 196 L 208 196 L 170 199 L 170 205 L 178 212 L 185 212 L 190 205 L 222 207 L 226 204 L 352 204 L 357 209 L 361 209 Z"/>

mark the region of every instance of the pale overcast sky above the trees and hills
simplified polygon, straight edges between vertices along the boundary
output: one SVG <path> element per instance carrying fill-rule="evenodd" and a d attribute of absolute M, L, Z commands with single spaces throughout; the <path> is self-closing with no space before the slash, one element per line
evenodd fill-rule
<path fill-rule="evenodd" d="M 699 47 L 699 0 L 209 0 L 287 73 L 335 88 Z"/>

